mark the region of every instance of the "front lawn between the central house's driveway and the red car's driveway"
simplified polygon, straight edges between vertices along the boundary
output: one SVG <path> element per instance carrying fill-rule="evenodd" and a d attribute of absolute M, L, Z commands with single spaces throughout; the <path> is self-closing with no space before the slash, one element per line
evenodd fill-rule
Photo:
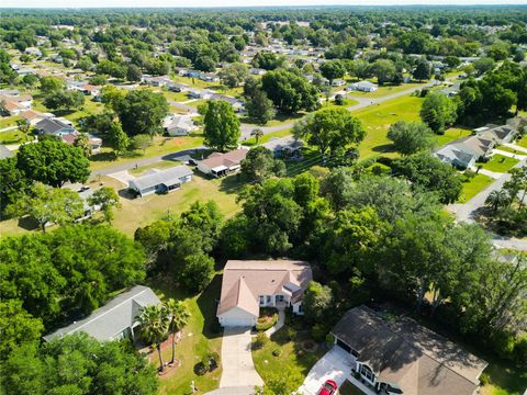
<path fill-rule="evenodd" d="M 260 350 L 253 350 L 253 360 L 264 382 L 288 374 L 288 379 L 294 381 L 295 386 L 300 386 L 325 350 L 318 348 L 315 352 L 304 351 L 301 342 L 307 339 L 306 335 L 299 331 L 295 341 L 291 341 L 287 336 L 287 328 L 284 326 L 279 329 Z M 272 354 L 276 349 L 281 350 L 279 357 Z"/>

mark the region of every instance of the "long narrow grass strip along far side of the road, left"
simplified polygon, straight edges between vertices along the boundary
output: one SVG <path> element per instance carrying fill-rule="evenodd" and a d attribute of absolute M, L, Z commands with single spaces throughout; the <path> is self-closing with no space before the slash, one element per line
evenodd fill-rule
<path fill-rule="evenodd" d="M 96 154 L 90 158 L 90 169 L 99 170 L 110 166 L 132 162 L 137 159 L 152 158 L 159 155 L 171 154 L 181 149 L 194 148 L 203 145 L 203 137 L 201 134 L 192 134 L 192 136 L 183 137 L 154 137 L 154 144 L 143 153 L 130 153 L 117 159 L 112 154 L 112 149 L 103 147 L 102 153 Z"/>

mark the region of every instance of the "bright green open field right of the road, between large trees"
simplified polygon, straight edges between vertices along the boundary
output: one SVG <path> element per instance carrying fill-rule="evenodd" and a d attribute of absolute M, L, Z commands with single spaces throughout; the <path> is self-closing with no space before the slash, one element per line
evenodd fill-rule
<path fill-rule="evenodd" d="M 422 98 L 408 95 L 351 112 L 362 121 L 367 131 L 359 145 L 360 158 L 393 154 L 393 145 L 386 137 L 390 125 L 397 121 L 418 121 L 422 105 Z"/>

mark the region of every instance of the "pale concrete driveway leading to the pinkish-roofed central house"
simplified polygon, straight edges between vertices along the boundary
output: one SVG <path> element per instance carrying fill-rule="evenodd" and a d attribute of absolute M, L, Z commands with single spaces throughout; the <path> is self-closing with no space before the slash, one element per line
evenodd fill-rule
<path fill-rule="evenodd" d="M 253 363 L 250 328 L 225 328 L 222 340 L 222 365 L 220 388 L 245 387 L 246 391 L 250 388 L 248 392 L 250 394 L 255 385 L 264 385 Z"/>

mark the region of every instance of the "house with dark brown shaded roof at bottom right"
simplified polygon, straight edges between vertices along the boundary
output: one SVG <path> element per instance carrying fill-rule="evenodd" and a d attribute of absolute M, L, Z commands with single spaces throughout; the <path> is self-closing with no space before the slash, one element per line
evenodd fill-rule
<path fill-rule="evenodd" d="M 348 311 L 332 334 L 355 377 L 380 394 L 472 395 L 487 365 L 408 317 L 389 321 L 365 306 Z"/>

